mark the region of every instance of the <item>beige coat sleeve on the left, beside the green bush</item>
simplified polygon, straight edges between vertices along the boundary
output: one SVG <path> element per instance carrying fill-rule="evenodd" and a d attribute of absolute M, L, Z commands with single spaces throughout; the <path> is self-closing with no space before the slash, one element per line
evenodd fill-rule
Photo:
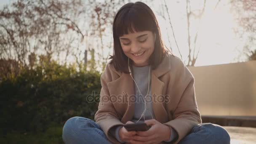
<path fill-rule="evenodd" d="M 117 116 L 117 112 L 109 96 L 107 83 L 111 81 L 111 73 L 108 66 L 101 75 L 101 92 L 98 110 L 94 115 L 96 123 L 106 134 L 109 141 L 115 144 L 120 144 L 117 139 L 110 133 L 110 129 L 116 125 L 124 125 Z"/>

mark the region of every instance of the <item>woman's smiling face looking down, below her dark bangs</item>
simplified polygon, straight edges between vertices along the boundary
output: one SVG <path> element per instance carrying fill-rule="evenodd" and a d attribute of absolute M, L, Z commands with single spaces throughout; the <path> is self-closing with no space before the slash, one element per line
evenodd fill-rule
<path fill-rule="evenodd" d="M 155 34 L 151 31 L 142 31 L 119 37 L 121 47 L 126 56 L 133 60 L 136 67 L 148 64 L 149 56 L 155 48 Z"/>

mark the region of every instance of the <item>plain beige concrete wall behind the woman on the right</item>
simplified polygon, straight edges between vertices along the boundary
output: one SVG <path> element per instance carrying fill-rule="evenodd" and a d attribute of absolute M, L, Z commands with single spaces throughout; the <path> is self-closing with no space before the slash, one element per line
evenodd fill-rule
<path fill-rule="evenodd" d="M 256 116 L 256 61 L 188 68 L 201 115 Z"/>

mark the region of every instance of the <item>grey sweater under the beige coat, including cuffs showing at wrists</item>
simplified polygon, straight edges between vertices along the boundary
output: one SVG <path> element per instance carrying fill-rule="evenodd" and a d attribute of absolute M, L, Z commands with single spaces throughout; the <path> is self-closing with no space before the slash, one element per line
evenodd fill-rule
<path fill-rule="evenodd" d="M 144 117 L 142 116 L 141 119 L 139 121 L 144 121 L 145 120 L 150 120 L 150 119 L 154 119 L 155 115 L 152 109 L 152 101 L 151 101 L 151 77 L 149 77 L 149 66 L 144 66 L 144 67 L 135 67 L 134 65 L 133 67 L 133 79 L 136 81 L 138 87 L 136 86 L 136 83 L 134 83 L 134 94 L 135 94 L 135 108 L 134 108 L 134 115 L 133 115 L 133 119 L 131 120 L 133 123 L 136 123 L 139 118 L 141 117 L 142 112 L 144 111 L 144 99 L 142 98 L 141 94 L 143 96 L 147 95 L 147 90 L 148 90 L 148 84 L 149 84 L 149 92 L 148 92 L 148 98 L 146 99 L 146 106 L 147 106 L 147 110 L 144 114 Z M 151 69 L 151 68 L 150 68 Z M 150 75 L 151 75 L 152 70 L 150 70 Z M 150 79 L 149 79 L 149 78 Z M 141 93 L 139 93 L 139 91 Z M 120 143 L 125 143 L 124 141 L 121 141 L 120 136 L 119 136 L 119 130 L 120 128 L 122 128 L 122 125 L 117 125 L 113 128 L 110 129 L 110 133 L 112 134 L 112 136 L 114 136 L 117 141 L 119 141 Z M 165 142 L 170 142 L 173 139 L 175 139 L 178 134 L 177 132 L 173 129 L 171 129 L 171 136 L 170 139 L 168 141 Z"/>

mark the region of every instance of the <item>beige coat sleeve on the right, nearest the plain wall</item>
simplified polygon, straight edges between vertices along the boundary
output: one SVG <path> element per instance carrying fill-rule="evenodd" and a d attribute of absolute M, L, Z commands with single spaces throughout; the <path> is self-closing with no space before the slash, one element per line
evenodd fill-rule
<path fill-rule="evenodd" d="M 178 133 L 178 143 L 183 139 L 192 127 L 202 123 L 200 112 L 198 111 L 195 97 L 195 79 L 189 69 L 182 61 L 177 62 L 176 71 L 172 79 L 174 80 L 170 89 L 174 91 L 173 96 L 180 97 L 179 103 L 173 112 L 173 120 L 163 123 Z"/>

